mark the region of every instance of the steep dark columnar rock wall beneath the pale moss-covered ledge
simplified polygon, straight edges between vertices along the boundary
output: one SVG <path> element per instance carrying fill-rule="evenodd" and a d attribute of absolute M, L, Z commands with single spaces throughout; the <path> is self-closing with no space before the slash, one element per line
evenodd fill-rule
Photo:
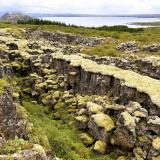
<path fill-rule="evenodd" d="M 119 79 L 114 75 L 86 71 L 82 66 L 74 66 L 70 63 L 67 59 L 54 57 L 51 63 L 51 66 L 56 68 L 59 74 L 66 76 L 68 88 L 83 95 L 95 94 L 102 96 L 110 94 L 120 104 L 136 101 L 149 110 L 150 115 L 160 115 L 159 103 L 155 104 L 151 99 L 151 95 L 139 90 L 136 86 L 131 87 L 123 79 Z"/>

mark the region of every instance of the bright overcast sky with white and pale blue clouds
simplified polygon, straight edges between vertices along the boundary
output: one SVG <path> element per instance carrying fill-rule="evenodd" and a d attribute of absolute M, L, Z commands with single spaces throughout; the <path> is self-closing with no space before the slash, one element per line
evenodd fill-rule
<path fill-rule="evenodd" d="M 0 0 L 0 12 L 139 14 L 160 13 L 160 0 Z"/>

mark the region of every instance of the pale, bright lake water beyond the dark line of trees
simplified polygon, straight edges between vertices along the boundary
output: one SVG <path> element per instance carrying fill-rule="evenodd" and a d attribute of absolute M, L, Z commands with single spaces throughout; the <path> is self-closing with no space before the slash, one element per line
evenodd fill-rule
<path fill-rule="evenodd" d="M 130 25 L 132 22 L 155 22 L 159 18 L 136 18 L 136 17 L 44 17 L 42 19 L 64 22 L 85 27 L 99 27 L 103 25 L 127 25 L 128 27 L 138 28 L 141 26 Z"/>

